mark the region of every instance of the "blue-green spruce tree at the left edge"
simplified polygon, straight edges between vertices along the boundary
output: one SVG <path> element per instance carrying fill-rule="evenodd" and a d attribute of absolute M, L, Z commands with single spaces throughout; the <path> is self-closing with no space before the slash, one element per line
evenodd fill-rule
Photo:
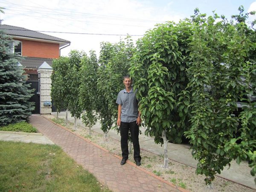
<path fill-rule="evenodd" d="M 27 120 L 34 109 L 32 90 L 17 66 L 17 55 L 10 52 L 12 41 L 0 30 L 0 126 Z"/>

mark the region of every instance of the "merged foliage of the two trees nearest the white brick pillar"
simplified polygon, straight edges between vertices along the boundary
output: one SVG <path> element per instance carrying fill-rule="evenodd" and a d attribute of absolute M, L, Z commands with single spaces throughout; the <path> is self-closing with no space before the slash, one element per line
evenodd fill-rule
<path fill-rule="evenodd" d="M 79 105 L 79 86 L 81 59 L 84 52 L 71 50 L 68 57 L 60 57 L 53 61 L 54 73 L 51 76 L 51 96 L 57 111 L 69 110 L 71 116 L 80 118 L 82 113 Z"/>

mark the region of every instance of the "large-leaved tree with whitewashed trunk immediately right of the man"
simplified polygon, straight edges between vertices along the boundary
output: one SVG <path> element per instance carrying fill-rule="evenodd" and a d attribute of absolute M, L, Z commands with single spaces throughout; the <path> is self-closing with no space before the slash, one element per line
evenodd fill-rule
<path fill-rule="evenodd" d="M 185 88 L 191 35 L 187 20 L 157 25 L 137 42 L 130 68 L 145 134 L 164 144 L 164 168 L 168 168 L 168 141 L 181 143 L 183 132 L 189 128 L 190 96 Z"/>

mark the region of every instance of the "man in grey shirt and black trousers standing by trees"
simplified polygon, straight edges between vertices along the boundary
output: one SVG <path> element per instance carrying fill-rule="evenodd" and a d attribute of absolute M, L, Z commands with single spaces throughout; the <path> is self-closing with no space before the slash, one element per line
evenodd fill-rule
<path fill-rule="evenodd" d="M 134 160 L 140 166 L 140 143 L 139 125 L 141 123 L 140 111 L 138 110 L 137 90 L 133 90 L 130 76 L 124 76 L 125 89 L 118 93 L 116 103 L 118 104 L 117 126 L 120 126 L 122 161 L 121 165 L 128 159 L 128 133 L 131 131 L 131 139 L 134 146 Z"/>

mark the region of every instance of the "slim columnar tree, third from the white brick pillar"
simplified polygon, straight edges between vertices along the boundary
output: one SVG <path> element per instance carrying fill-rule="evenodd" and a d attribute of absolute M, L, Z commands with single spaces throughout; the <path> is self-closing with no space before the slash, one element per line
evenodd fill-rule
<path fill-rule="evenodd" d="M 95 51 L 90 51 L 90 56 L 81 59 L 79 105 L 84 110 L 82 114 L 83 123 L 91 128 L 97 122 L 96 102 L 97 102 L 97 70 L 98 62 Z"/>

